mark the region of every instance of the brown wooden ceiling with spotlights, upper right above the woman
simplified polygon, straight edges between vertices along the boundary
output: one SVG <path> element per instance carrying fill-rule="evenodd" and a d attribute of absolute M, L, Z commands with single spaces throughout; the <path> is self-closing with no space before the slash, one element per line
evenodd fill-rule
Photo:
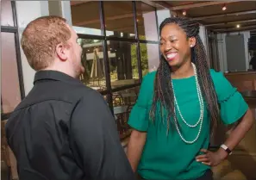
<path fill-rule="evenodd" d="M 160 1 L 156 2 L 175 11 L 177 16 L 197 20 L 217 33 L 256 31 L 256 1 Z M 222 10 L 223 7 L 226 10 Z M 237 28 L 239 25 L 240 28 Z"/>

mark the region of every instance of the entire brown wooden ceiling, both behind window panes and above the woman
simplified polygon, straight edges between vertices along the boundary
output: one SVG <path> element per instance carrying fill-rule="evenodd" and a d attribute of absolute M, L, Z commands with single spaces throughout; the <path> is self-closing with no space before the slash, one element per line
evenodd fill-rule
<path fill-rule="evenodd" d="M 137 17 L 140 34 L 144 34 L 144 13 L 153 11 L 145 3 L 137 2 Z M 170 9 L 177 16 L 197 20 L 217 33 L 250 30 L 256 32 L 256 1 L 153 1 Z M 100 29 L 99 3 L 97 1 L 71 1 L 72 22 L 74 26 Z M 223 6 L 226 10 L 222 10 Z M 104 1 L 106 29 L 134 34 L 134 15 L 129 1 Z M 140 21 L 141 20 L 141 21 Z M 236 28 L 239 25 L 240 28 Z"/>

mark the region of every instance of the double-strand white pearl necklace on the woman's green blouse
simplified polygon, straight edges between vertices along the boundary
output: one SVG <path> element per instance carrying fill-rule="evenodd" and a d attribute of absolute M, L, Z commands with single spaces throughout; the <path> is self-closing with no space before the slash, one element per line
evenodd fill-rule
<path fill-rule="evenodd" d="M 196 65 L 194 65 L 192 63 L 192 66 L 193 66 L 193 70 L 194 70 L 194 73 L 195 73 L 195 78 L 196 78 L 196 85 L 197 85 L 197 96 L 198 96 L 198 99 L 199 99 L 199 104 L 200 104 L 200 116 L 198 118 L 198 121 L 196 122 L 196 124 L 194 125 L 191 125 L 189 124 L 187 121 L 184 120 L 184 117 L 183 115 L 181 114 L 181 111 L 178 107 L 178 102 L 177 102 L 177 99 L 176 99 L 176 96 L 175 96 L 175 91 L 174 91 L 174 88 L 173 88 L 173 82 L 172 82 L 172 91 L 173 91 L 173 96 L 174 96 L 174 122 L 175 122 L 175 126 L 177 128 L 177 131 L 178 131 L 178 134 L 181 138 L 181 140 L 183 140 L 185 143 L 187 144 L 193 144 L 194 142 L 196 142 L 198 140 L 198 137 L 201 133 L 201 130 L 202 130 L 202 126 L 203 126 L 203 96 L 202 96 L 202 92 L 201 92 L 201 89 L 200 89 L 200 85 L 198 83 L 198 78 L 197 78 L 197 68 L 196 68 Z M 183 135 L 180 133 L 180 130 L 178 128 L 178 120 L 177 120 L 177 115 L 176 115 L 176 108 L 175 106 L 177 107 L 177 110 L 178 110 L 178 114 L 179 116 L 181 117 L 181 120 L 184 122 L 185 125 L 187 125 L 188 127 L 197 127 L 199 125 L 199 130 L 198 130 L 198 133 L 197 133 L 197 136 L 194 140 L 185 140 Z"/>

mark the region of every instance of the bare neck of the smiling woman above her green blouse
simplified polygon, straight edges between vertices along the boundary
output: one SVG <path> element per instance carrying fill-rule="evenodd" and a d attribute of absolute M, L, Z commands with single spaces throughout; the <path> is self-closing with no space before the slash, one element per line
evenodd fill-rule
<path fill-rule="evenodd" d="M 190 78 L 194 76 L 193 66 L 190 61 L 184 63 L 179 67 L 172 67 L 171 76 L 173 79 L 175 78 Z"/>

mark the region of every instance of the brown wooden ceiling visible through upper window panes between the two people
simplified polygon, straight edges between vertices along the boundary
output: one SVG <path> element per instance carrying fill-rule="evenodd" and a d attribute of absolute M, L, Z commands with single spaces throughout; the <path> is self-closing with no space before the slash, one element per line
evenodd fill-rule
<path fill-rule="evenodd" d="M 101 29 L 99 2 L 72 1 L 71 5 L 73 26 L 91 28 L 91 32 L 93 29 Z M 135 34 L 131 1 L 104 1 L 103 8 L 107 31 Z M 154 8 L 146 3 L 136 2 L 136 9 L 139 32 L 140 35 L 144 35 L 143 15 L 147 12 L 154 14 Z M 157 27 L 154 30 L 157 33 Z"/>

